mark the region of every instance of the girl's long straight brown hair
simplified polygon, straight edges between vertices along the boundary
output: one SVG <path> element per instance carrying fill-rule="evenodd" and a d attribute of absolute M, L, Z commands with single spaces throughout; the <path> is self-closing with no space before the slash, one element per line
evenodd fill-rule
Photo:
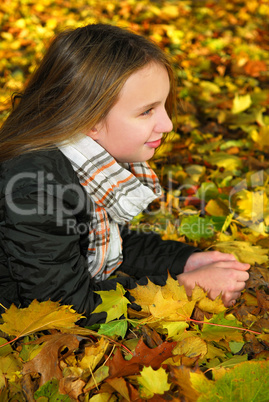
<path fill-rule="evenodd" d="M 168 71 L 172 117 L 173 70 L 157 45 L 105 24 L 60 33 L 0 130 L 0 161 L 74 141 L 106 117 L 127 78 L 150 62 Z"/>

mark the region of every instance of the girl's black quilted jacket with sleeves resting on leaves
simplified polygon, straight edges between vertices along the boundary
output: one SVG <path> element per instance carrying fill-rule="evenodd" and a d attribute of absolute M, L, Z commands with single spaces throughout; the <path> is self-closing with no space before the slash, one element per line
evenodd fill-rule
<path fill-rule="evenodd" d="M 183 272 L 197 249 L 155 234 L 123 228 L 123 263 L 128 277 L 96 283 L 88 272 L 90 203 L 69 160 L 58 149 L 25 154 L 0 167 L 0 302 L 26 307 L 32 300 L 73 305 L 87 319 L 103 321 L 91 312 L 100 303 L 94 291 L 126 289 L 145 284 L 149 277 L 164 284 L 167 271 Z M 78 207 L 79 206 L 79 207 Z M 73 229 L 72 229 L 73 228 Z"/>

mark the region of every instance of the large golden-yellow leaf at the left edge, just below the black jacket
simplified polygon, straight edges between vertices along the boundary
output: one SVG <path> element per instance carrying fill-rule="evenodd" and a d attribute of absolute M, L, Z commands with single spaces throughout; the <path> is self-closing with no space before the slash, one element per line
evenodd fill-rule
<path fill-rule="evenodd" d="M 59 302 L 37 300 L 26 308 L 17 308 L 14 304 L 4 312 L 4 324 L 0 330 L 18 338 L 46 329 L 73 328 L 82 318 L 71 306 L 61 306 Z"/>

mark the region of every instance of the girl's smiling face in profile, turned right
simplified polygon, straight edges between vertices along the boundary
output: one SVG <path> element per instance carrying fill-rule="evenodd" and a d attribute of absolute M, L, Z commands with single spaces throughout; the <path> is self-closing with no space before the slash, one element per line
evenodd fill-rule
<path fill-rule="evenodd" d="M 172 130 L 165 110 L 169 94 L 168 73 L 150 63 L 125 82 L 119 100 L 101 123 L 87 135 L 118 162 L 144 162 L 160 145 L 163 133 Z"/>

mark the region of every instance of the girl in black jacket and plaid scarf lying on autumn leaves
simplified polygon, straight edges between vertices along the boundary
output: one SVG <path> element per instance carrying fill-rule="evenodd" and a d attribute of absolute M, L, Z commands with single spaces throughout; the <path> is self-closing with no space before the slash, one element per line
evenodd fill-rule
<path fill-rule="evenodd" d="M 172 130 L 175 83 L 166 55 L 110 25 L 61 33 L 0 133 L 0 302 L 33 299 L 91 312 L 98 290 L 167 271 L 229 306 L 248 279 L 230 254 L 197 252 L 124 224 L 161 195 L 147 164 Z M 108 279 L 117 270 L 128 274 Z"/>

